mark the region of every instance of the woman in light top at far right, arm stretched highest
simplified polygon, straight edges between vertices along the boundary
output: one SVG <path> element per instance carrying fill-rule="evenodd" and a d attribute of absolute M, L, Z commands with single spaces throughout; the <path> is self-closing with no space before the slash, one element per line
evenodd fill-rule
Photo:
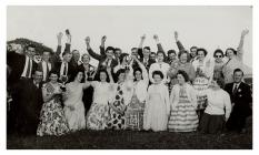
<path fill-rule="evenodd" d="M 242 69 L 242 58 L 243 58 L 243 41 L 245 37 L 249 33 L 249 30 L 242 30 L 240 42 L 237 51 L 232 48 L 226 50 L 226 56 L 228 58 L 227 63 L 222 68 L 225 84 L 233 82 L 233 70 Z"/>

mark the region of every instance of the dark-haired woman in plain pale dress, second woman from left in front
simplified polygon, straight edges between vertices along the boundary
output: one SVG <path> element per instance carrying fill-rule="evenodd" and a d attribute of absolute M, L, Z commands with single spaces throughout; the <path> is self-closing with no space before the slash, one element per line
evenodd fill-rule
<path fill-rule="evenodd" d="M 84 78 L 82 70 L 73 73 L 72 82 L 66 84 L 64 93 L 64 115 L 69 124 L 70 131 L 79 131 L 86 128 L 84 106 L 82 102 L 83 89 L 88 83 L 81 83 Z"/>

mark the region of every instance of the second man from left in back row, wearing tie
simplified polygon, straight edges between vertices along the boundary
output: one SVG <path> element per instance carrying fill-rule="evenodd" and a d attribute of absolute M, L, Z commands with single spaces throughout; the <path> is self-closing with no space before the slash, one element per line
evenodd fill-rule
<path fill-rule="evenodd" d="M 52 64 L 50 63 L 50 52 L 43 51 L 42 61 L 38 64 L 38 70 L 43 72 L 43 82 L 48 80 L 49 72 L 52 69 Z"/>

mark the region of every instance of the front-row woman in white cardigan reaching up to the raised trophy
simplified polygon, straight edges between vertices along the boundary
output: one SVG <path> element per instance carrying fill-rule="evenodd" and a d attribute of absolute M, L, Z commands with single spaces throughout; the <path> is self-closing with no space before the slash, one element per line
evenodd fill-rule
<path fill-rule="evenodd" d="M 126 111 L 126 127 L 140 131 L 143 128 L 143 110 L 149 84 L 148 72 L 145 65 L 136 58 L 132 59 L 140 68 L 133 71 L 133 94 Z"/>

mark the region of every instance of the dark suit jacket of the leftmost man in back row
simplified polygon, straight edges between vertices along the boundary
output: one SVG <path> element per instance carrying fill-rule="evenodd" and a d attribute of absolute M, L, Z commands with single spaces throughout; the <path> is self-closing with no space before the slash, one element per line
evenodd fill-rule
<path fill-rule="evenodd" d="M 23 72 L 24 65 L 26 65 L 26 55 L 18 54 L 16 52 L 9 52 L 7 53 L 7 64 L 11 69 L 11 73 L 8 78 L 8 83 L 17 83 L 21 74 Z M 37 63 L 32 61 L 32 71 L 33 73 L 37 70 Z"/>

